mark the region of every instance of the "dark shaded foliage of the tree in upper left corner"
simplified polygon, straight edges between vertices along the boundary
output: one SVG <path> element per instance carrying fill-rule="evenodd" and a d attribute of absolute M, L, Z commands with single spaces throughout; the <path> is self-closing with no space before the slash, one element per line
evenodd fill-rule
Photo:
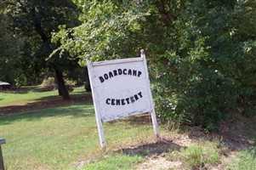
<path fill-rule="evenodd" d="M 77 59 L 70 59 L 67 53 L 62 54 L 62 59 L 59 54 L 48 59 L 49 54 L 60 45 L 60 42 L 50 42 L 52 33 L 59 31 L 58 26 L 78 25 L 77 6 L 71 0 L 4 0 L 3 4 L 3 14 L 8 19 L 6 27 L 14 37 L 20 37 L 23 41 L 22 46 L 18 46 L 19 54 L 14 59 L 8 56 L 21 72 L 16 74 L 19 76 L 14 77 L 15 81 L 21 85 L 35 85 L 42 81 L 42 77 L 48 77 L 56 70 L 61 72 L 57 79 L 77 78 L 71 76 L 75 71 L 82 70 Z M 64 91 L 63 81 L 57 82 L 60 91 Z M 64 92 L 60 94 L 66 95 Z"/>

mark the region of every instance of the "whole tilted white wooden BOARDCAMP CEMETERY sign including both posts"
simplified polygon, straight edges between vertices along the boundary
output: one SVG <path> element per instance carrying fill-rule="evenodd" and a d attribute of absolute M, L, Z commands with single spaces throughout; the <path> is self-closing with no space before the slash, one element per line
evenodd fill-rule
<path fill-rule="evenodd" d="M 87 65 L 101 146 L 105 147 L 102 122 L 146 112 L 151 112 L 158 136 L 144 51 L 140 58 L 100 62 L 92 62 L 88 56 Z"/>

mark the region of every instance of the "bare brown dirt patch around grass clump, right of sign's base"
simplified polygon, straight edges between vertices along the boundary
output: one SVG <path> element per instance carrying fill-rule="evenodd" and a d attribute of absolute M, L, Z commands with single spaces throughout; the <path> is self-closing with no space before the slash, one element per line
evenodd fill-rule
<path fill-rule="evenodd" d="M 235 127 L 232 127 L 235 128 Z M 235 128 L 236 129 L 236 128 Z M 243 129 L 246 131 L 247 129 Z M 171 153 L 176 153 L 176 150 L 190 147 L 192 144 L 204 144 L 204 142 L 218 140 L 221 150 L 219 162 L 213 166 L 206 166 L 203 169 L 210 170 L 225 170 L 226 163 L 236 159 L 239 150 L 246 149 L 254 144 L 247 139 L 246 135 L 242 135 L 242 129 L 237 133 L 231 131 L 223 131 L 220 129 L 218 133 L 206 133 L 202 127 L 187 127 L 186 133 L 175 133 L 162 137 L 156 142 L 148 142 L 145 144 L 130 146 L 123 148 L 122 153 L 128 155 L 144 156 L 146 161 L 143 161 L 135 166 L 136 169 L 142 170 L 168 170 L 168 169 L 184 169 L 183 162 L 178 157 L 170 157 Z M 245 134 L 243 132 L 243 134 Z M 208 146 L 206 146 L 208 147 Z"/>

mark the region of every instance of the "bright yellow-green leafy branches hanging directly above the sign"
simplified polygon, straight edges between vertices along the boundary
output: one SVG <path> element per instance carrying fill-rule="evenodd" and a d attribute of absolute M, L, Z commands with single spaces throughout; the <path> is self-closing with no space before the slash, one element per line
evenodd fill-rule
<path fill-rule="evenodd" d="M 83 12 L 79 17 L 82 25 L 72 29 L 60 26 L 61 30 L 54 34 L 53 41 L 62 43 L 60 53 L 67 50 L 81 59 L 86 54 L 96 59 L 113 59 L 134 56 L 139 51 L 135 48 L 139 42 L 139 21 L 144 20 L 147 13 L 136 11 L 132 2 L 82 1 L 78 6 Z M 130 48 L 134 48 L 133 54 Z"/>

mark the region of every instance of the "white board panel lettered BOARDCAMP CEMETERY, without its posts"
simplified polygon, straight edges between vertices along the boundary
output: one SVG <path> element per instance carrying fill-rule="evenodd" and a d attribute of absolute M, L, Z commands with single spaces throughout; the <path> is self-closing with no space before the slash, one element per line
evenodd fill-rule
<path fill-rule="evenodd" d="M 117 59 L 117 64 L 111 60 L 111 65 L 94 66 L 92 63 L 94 75 L 90 82 L 94 83 L 97 112 L 102 120 L 151 108 L 143 59 L 132 59 L 136 62 L 120 63 Z"/>

